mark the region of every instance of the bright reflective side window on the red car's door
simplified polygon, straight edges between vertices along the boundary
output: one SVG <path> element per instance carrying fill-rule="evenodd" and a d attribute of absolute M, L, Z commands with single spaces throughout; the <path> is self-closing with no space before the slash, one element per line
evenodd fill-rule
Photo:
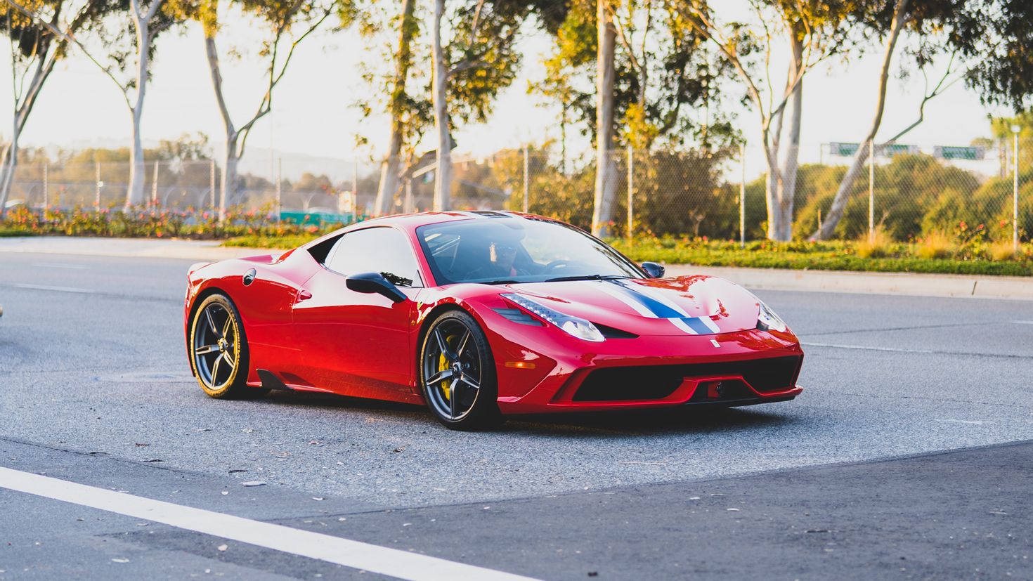
<path fill-rule="evenodd" d="M 367 228 L 344 234 L 331 250 L 325 266 L 346 276 L 380 272 L 399 286 L 422 285 L 409 240 L 394 228 Z"/>

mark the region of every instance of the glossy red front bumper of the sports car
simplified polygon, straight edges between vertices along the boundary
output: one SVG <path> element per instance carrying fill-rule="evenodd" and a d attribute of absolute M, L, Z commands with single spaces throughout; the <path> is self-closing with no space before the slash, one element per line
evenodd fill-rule
<path fill-rule="evenodd" d="M 535 352 L 518 344 L 495 349 L 503 414 L 751 406 L 803 391 L 795 382 L 804 353 L 789 332 L 750 329 L 593 345 L 554 338 Z M 529 360 L 529 354 L 536 373 L 511 361 Z"/>

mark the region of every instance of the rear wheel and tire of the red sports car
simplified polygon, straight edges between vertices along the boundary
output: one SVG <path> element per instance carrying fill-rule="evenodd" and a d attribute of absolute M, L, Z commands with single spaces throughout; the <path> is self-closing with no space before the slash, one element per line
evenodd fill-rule
<path fill-rule="evenodd" d="M 223 294 L 207 297 L 190 322 L 190 370 L 210 397 L 260 397 L 268 389 L 248 387 L 248 342 L 237 306 Z"/>

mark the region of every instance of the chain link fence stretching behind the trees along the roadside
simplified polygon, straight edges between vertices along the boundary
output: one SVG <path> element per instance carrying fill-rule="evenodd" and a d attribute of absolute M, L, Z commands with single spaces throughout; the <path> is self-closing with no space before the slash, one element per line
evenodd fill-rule
<path fill-rule="evenodd" d="M 793 237 L 806 239 L 831 218 L 853 156 L 870 144 L 824 143 L 800 151 L 791 214 Z M 784 155 L 784 151 L 782 152 Z M 866 152 L 867 153 L 867 152 Z M 1028 240 L 1033 233 L 1033 140 L 980 146 L 878 146 L 845 191 L 834 237 L 857 239 L 874 230 L 895 240 L 933 234 Z M 768 235 L 768 164 L 756 147 L 694 152 L 619 150 L 606 160 L 609 204 L 602 224 L 613 236 L 657 235 L 762 239 Z M 286 162 L 286 163 L 285 163 Z M 410 168 L 392 212 L 433 207 L 434 156 Z M 262 164 L 264 165 L 264 164 Z M 452 209 L 527 211 L 591 228 L 596 160 L 512 149 L 484 157 L 455 156 Z M 367 163 L 270 160 L 264 175 L 243 171 L 227 205 L 244 211 L 358 219 L 372 214 L 379 168 Z M 782 167 L 780 167 L 780 171 Z M 145 201 L 180 212 L 218 207 L 221 169 L 213 161 L 145 164 Z M 786 177 L 773 181 L 788 187 Z M 30 208 L 120 207 L 129 164 L 20 164 L 8 205 Z M 629 195 L 630 194 L 630 195 Z M 1018 218 L 1018 220 L 1016 220 Z"/>

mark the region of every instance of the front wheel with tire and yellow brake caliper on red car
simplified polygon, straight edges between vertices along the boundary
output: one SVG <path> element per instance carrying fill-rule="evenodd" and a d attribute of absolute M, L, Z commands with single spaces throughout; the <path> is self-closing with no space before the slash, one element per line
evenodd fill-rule
<path fill-rule="evenodd" d="M 469 313 L 448 311 L 428 327 L 419 385 L 431 413 L 449 429 L 490 429 L 505 421 L 491 346 Z"/>

